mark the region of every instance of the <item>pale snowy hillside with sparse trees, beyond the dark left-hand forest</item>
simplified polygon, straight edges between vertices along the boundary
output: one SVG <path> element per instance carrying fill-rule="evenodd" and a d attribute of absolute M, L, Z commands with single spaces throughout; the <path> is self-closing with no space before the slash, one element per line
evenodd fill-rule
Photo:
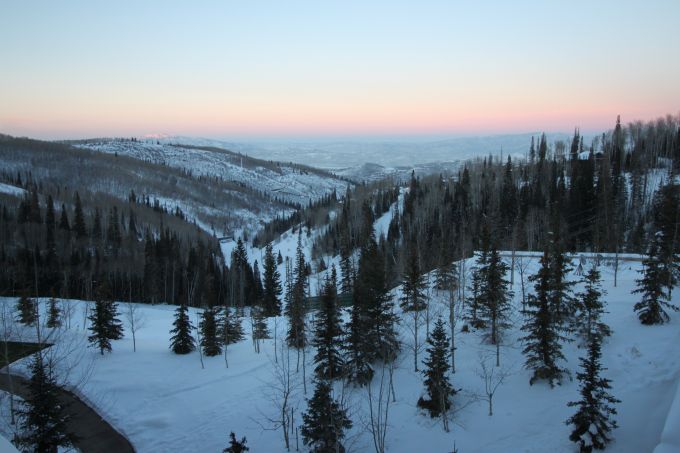
<path fill-rule="evenodd" d="M 87 140 L 75 146 L 181 168 L 194 176 L 219 177 L 303 206 L 333 190 L 343 193 L 348 185 L 325 171 L 253 159 L 221 148 L 128 139 Z"/>

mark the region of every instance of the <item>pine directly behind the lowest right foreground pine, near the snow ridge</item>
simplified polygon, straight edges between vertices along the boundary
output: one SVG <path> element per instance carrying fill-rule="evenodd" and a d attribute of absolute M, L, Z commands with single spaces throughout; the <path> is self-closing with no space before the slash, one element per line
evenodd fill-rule
<path fill-rule="evenodd" d="M 577 294 L 578 315 L 574 330 L 586 341 L 590 343 L 591 337 L 597 335 L 600 338 L 611 335 L 611 329 L 602 322 L 604 303 L 600 288 L 600 271 L 597 266 L 593 266 L 585 276 L 585 288 L 582 293 Z"/>

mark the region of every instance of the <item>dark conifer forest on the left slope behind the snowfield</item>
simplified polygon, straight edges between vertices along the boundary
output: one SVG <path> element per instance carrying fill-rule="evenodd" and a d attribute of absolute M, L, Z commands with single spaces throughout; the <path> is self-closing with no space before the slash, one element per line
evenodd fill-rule
<path fill-rule="evenodd" d="M 218 303 L 226 273 L 216 241 L 179 209 L 131 194 L 41 192 L 25 175 L 23 197 L 0 197 L 0 294 Z M 193 293 L 190 293 L 190 289 Z"/>

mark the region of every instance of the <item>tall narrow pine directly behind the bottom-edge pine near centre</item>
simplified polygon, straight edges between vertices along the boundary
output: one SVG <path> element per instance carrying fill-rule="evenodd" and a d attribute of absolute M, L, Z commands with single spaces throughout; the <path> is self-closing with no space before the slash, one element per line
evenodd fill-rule
<path fill-rule="evenodd" d="M 333 267 L 331 277 L 326 276 L 321 293 L 321 309 L 314 323 L 312 346 L 316 348 L 314 372 L 317 379 L 332 380 L 342 375 L 343 360 L 340 349 L 343 330 L 340 309 L 337 305 L 335 278 L 335 267 Z"/>

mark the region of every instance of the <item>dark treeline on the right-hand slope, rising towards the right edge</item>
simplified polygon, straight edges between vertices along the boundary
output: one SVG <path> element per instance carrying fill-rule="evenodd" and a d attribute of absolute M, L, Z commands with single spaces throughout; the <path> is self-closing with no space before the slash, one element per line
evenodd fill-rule
<path fill-rule="evenodd" d="M 567 251 L 644 253 L 654 192 L 680 166 L 679 123 L 669 116 L 624 127 L 617 120 L 589 145 L 578 130 L 571 143 L 551 145 L 542 135 L 524 158 L 488 156 L 456 175 L 413 175 L 403 206 L 378 238 L 390 284 L 399 282 L 409 244 L 429 271 L 470 257 L 484 228 L 506 250 L 542 250 L 559 229 Z M 390 193 L 394 202 L 398 190 L 374 191 L 374 197 Z M 359 188 L 348 191 L 314 246 L 317 256 L 340 254 L 343 274 L 354 273 L 353 251 L 386 210 L 380 202 L 357 202 L 360 197 L 366 198 Z"/>

